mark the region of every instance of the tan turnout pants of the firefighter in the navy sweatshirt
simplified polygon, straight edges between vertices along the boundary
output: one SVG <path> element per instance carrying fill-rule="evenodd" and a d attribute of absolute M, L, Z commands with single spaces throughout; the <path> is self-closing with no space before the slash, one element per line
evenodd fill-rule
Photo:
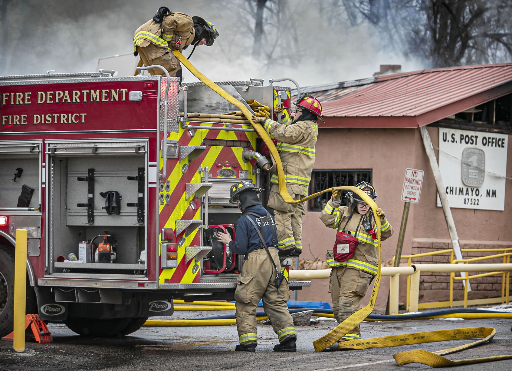
<path fill-rule="evenodd" d="M 278 250 L 269 249 L 275 265 L 280 269 Z M 279 292 L 275 287 L 276 272 L 265 249 L 251 251 L 244 261 L 242 272 L 237 278 L 234 292 L 236 301 L 237 331 L 240 344 L 258 343 L 256 331 L 256 308 L 260 299 L 263 308 L 272 322 L 279 342 L 297 337 L 293 320 L 288 312 L 286 302 L 290 299 L 288 282 L 283 280 Z"/>

